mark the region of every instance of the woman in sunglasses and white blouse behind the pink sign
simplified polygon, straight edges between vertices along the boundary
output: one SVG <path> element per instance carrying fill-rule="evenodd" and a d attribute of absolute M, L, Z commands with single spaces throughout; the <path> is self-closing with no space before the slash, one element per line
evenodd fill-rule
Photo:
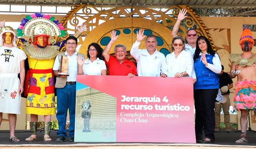
<path fill-rule="evenodd" d="M 185 41 L 181 36 L 172 39 L 172 53 L 166 56 L 169 77 L 192 77 L 193 58 L 185 51 Z"/>

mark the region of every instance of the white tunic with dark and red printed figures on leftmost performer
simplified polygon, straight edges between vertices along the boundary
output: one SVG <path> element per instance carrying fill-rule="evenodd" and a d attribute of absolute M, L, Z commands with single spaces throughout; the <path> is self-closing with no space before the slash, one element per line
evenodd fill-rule
<path fill-rule="evenodd" d="M 0 47 L 0 112 L 20 114 L 20 61 L 26 54 L 16 47 Z"/>

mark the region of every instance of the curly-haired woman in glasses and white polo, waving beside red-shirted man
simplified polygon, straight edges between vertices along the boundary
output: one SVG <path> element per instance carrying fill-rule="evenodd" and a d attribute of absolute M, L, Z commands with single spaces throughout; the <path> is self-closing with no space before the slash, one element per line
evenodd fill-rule
<path fill-rule="evenodd" d="M 79 64 L 78 74 L 84 75 L 106 75 L 106 64 L 102 60 L 102 48 L 98 43 L 91 43 L 87 50 L 88 59 L 77 57 Z"/>

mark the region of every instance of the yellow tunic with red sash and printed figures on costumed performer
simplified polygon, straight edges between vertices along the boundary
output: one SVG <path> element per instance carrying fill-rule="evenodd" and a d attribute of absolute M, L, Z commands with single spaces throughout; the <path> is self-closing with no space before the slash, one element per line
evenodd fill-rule
<path fill-rule="evenodd" d="M 54 96 L 54 76 L 52 67 L 54 58 L 38 60 L 28 57 L 30 70 L 26 114 L 51 115 L 56 114 Z"/>

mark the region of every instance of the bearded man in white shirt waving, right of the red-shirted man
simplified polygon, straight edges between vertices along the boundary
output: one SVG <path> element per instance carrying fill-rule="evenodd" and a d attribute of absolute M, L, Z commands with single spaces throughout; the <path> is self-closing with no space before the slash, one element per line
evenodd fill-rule
<path fill-rule="evenodd" d="M 168 70 L 165 56 L 156 50 L 157 40 L 155 35 L 143 35 L 141 29 L 137 31 L 137 40 L 132 45 L 130 54 L 137 61 L 138 76 L 166 77 Z M 139 49 L 140 42 L 146 37 L 146 49 Z"/>

